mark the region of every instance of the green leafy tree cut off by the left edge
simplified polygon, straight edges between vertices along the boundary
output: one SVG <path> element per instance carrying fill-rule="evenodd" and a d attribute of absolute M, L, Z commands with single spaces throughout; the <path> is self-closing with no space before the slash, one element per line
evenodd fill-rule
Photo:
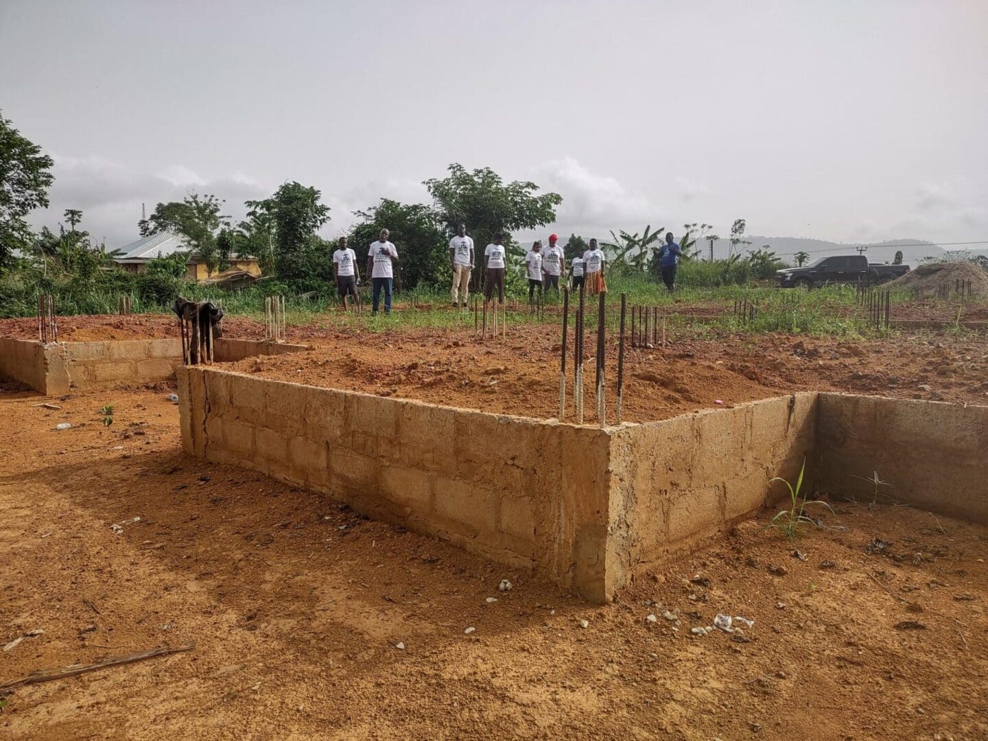
<path fill-rule="evenodd" d="M 0 270 L 12 263 L 15 249 L 31 247 L 34 234 L 25 217 L 48 205 L 52 164 L 0 112 Z"/>

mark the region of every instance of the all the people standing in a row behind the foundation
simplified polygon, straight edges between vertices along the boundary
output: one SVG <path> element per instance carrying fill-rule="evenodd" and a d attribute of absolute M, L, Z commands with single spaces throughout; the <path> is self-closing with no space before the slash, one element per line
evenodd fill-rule
<path fill-rule="evenodd" d="M 371 276 L 372 310 L 376 313 L 380 297 L 384 296 L 384 313 L 391 312 L 391 295 L 394 289 L 394 266 L 398 264 L 398 250 L 388 237 L 390 232 L 381 229 L 377 241 L 371 242 L 368 250 L 368 275 Z M 539 292 L 555 288 L 559 292 L 559 282 L 566 284 L 566 256 L 558 244 L 559 238 L 550 234 L 548 246 L 542 246 L 541 240 L 536 240 L 525 256 L 525 272 L 529 280 L 529 300 Z M 676 273 L 679 259 L 682 256 L 680 247 L 676 244 L 673 233 L 666 234 L 666 243 L 660 252 L 660 267 L 662 281 L 666 288 L 675 290 Z M 456 234 L 450 240 L 450 267 L 453 270 L 453 306 L 465 307 L 469 296 L 470 277 L 473 272 L 475 253 L 473 239 L 466 233 L 466 225 L 458 224 Z M 570 261 L 570 271 L 573 277 L 573 289 L 583 288 L 591 295 L 607 291 L 604 280 L 604 265 L 606 258 L 596 239 L 591 239 L 588 249 Z M 490 300 L 497 291 L 498 301 L 504 302 L 504 281 L 507 270 L 507 250 L 504 246 L 504 235 L 495 234 L 493 241 L 484 248 L 484 298 Z M 360 271 L 357 267 L 357 253 L 348 246 L 347 238 L 340 237 L 339 246 L 333 253 L 333 279 L 336 283 L 343 307 L 348 308 L 349 299 L 357 301 L 360 308 L 360 295 L 357 286 L 360 284 Z"/>

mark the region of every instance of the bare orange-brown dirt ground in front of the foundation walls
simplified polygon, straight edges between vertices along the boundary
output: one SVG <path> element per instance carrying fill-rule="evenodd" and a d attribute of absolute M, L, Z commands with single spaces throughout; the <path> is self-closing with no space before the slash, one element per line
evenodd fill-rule
<path fill-rule="evenodd" d="M 988 737 L 986 528 L 767 514 L 593 607 L 185 456 L 164 394 L 52 401 L 0 400 L 0 683 L 196 648 L 19 688 L 5 739 Z M 755 623 L 692 633 L 718 613 Z"/>

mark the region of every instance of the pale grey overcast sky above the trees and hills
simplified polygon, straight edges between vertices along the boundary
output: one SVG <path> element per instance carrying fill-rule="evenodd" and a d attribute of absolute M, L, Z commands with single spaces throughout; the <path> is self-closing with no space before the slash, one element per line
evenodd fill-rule
<path fill-rule="evenodd" d="M 141 202 L 532 179 L 585 236 L 988 240 L 988 3 L 0 0 L 0 108 L 108 246 Z"/>

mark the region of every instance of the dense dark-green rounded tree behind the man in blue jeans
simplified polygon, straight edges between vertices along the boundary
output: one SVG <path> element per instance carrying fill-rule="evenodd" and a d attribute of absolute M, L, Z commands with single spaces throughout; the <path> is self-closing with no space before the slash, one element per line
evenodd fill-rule
<path fill-rule="evenodd" d="M 395 276 L 401 288 L 449 280 L 448 239 L 442 215 L 434 208 L 381 199 L 377 206 L 357 211 L 357 215 L 364 220 L 351 229 L 349 239 L 362 266 L 367 263 L 368 246 L 377 239 L 381 229 L 387 229 L 401 256 Z"/>

